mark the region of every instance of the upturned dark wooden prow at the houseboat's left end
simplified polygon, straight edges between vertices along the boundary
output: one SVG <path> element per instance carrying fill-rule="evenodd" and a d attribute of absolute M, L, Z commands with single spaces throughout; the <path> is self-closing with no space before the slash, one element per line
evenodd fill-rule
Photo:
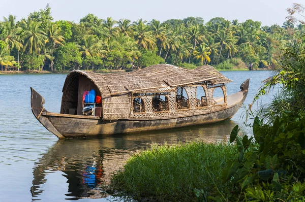
<path fill-rule="evenodd" d="M 54 125 L 49 121 L 49 119 L 43 116 L 43 113 L 47 113 L 48 111 L 44 109 L 43 104 L 45 104 L 44 98 L 31 87 L 31 107 L 34 116 L 39 120 L 39 122 L 45 126 L 50 132 L 55 134 L 59 139 L 65 139 L 62 134 L 60 134 Z"/>

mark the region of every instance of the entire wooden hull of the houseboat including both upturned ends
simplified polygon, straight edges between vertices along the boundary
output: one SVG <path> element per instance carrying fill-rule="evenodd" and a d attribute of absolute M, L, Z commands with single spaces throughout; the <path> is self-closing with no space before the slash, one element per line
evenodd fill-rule
<path fill-rule="evenodd" d="M 247 81 L 247 89 L 242 89 L 228 96 L 228 105 L 226 107 L 217 111 L 193 113 L 176 117 L 108 121 L 102 120 L 99 117 L 50 113 L 43 108 L 43 97 L 33 88 L 31 88 L 31 104 L 35 117 L 59 139 L 170 129 L 216 123 L 231 118 L 246 99 L 249 86 L 249 80 Z M 245 82 L 243 84 L 245 85 Z"/>

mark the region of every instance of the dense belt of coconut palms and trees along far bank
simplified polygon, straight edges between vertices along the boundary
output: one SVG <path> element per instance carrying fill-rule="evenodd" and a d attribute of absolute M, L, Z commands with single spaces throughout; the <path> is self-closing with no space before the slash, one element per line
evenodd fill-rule
<path fill-rule="evenodd" d="M 201 17 L 132 23 L 88 14 L 79 23 L 54 22 L 47 6 L 20 21 L 4 17 L 0 63 L 2 69 L 22 70 L 127 69 L 164 62 L 186 68 L 210 64 L 256 69 L 275 66 L 281 49 L 295 45 L 304 30 L 289 21 L 282 27 L 261 27 L 253 20 L 219 17 L 206 23 Z"/>

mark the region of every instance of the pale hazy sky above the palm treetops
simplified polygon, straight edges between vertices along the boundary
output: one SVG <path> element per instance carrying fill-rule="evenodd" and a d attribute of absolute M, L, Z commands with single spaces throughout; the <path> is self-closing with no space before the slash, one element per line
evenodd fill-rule
<path fill-rule="evenodd" d="M 161 22 L 168 19 L 184 19 L 189 16 L 202 17 L 208 22 L 214 17 L 227 20 L 247 19 L 262 22 L 264 25 L 279 24 L 286 21 L 286 9 L 293 3 L 305 4 L 300 0 L 0 0 L 0 20 L 9 14 L 17 16 L 17 20 L 27 17 L 29 13 L 51 7 L 54 20 L 69 20 L 78 23 L 88 13 L 100 19 L 112 17 L 132 22 L 140 18 Z"/>

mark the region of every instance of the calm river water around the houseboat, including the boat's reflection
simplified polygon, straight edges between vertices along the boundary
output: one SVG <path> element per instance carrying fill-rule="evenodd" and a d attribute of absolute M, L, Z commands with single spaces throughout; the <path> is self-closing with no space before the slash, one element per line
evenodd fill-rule
<path fill-rule="evenodd" d="M 261 81 L 272 75 L 269 71 L 222 73 L 233 80 L 227 85 L 228 94 L 251 78 L 245 104 L 252 103 Z M 240 109 L 231 120 L 209 126 L 58 141 L 32 114 L 29 87 L 45 98 L 48 111 L 58 113 L 65 78 L 0 75 L 0 201 L 120 200 L 105 194 L 102 187 L 131 154 L 165 142 L 226 141 L 236 124 L 251 133 L 240 120 L 245 111 Z M 263 103 L 270 98 L 264 97 Z"/>

